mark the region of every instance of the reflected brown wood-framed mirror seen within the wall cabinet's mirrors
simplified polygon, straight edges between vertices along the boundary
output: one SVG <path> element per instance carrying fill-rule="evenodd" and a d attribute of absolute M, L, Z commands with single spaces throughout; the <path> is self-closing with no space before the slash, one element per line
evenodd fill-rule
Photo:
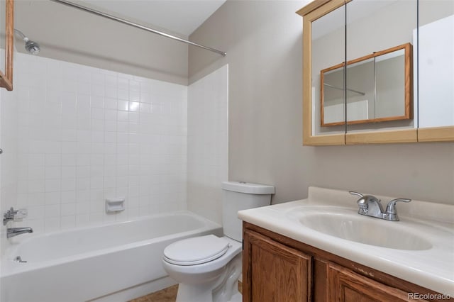
<path fill-rule="evenodd" d="M 411 115 L 411 44 L 347 62 L 347 124 L 379 123 Z M 345 123 L 343 64 L 321 70 L 321 126 Z"/>

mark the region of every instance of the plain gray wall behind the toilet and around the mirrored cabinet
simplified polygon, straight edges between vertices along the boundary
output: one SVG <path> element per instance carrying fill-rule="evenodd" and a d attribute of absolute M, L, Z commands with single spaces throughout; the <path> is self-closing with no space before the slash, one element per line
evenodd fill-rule
<path fill-rule="evenodd" d="M 302 146 L 306 3 L 228 0 L 189 37 L 227 52 L 189 49 L 189 82 L 229 65 L 229 179 L 275 185 L 273 203 L 308 186 L 454 203 L 454 143 Z"/>

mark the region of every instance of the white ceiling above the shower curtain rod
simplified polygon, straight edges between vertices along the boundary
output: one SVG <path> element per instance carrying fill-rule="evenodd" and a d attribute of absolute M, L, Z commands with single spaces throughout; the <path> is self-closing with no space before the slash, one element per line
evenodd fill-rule
<path fill-rule="evenodd" d="M 226 0 L 84 0 L 100 11 L 189 36 Z"/>

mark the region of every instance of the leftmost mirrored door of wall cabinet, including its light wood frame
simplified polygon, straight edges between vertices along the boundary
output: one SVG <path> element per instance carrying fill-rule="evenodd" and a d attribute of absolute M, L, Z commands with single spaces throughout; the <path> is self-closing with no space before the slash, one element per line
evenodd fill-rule
<path fill-rule="evenodd" d="M 343 66 L 339 94 L 330 96 L 331 106 L 339 108 L 339 121 L 332 127 L 323 126 L 321 98 L 328 93 L 321 84 L 321 70 L 345 61 L 345 1 L 313 1 L 297 11 L 303 16 L 303 144 L 345 144 L 345 96 L 343 94 Z M 339 87 L 338 87 L 339 88 Z M 336 91 L 335 91 L 336 92 Z"/>

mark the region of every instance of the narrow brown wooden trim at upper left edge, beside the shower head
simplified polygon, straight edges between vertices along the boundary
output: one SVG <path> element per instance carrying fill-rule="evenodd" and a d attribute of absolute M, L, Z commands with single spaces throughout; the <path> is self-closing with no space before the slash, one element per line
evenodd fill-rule
<path fill-rule="evenodd" d="M 13 90 L 14 0 L 6 0 L 5 72 L 0 72 L 0 87 Z"/>

